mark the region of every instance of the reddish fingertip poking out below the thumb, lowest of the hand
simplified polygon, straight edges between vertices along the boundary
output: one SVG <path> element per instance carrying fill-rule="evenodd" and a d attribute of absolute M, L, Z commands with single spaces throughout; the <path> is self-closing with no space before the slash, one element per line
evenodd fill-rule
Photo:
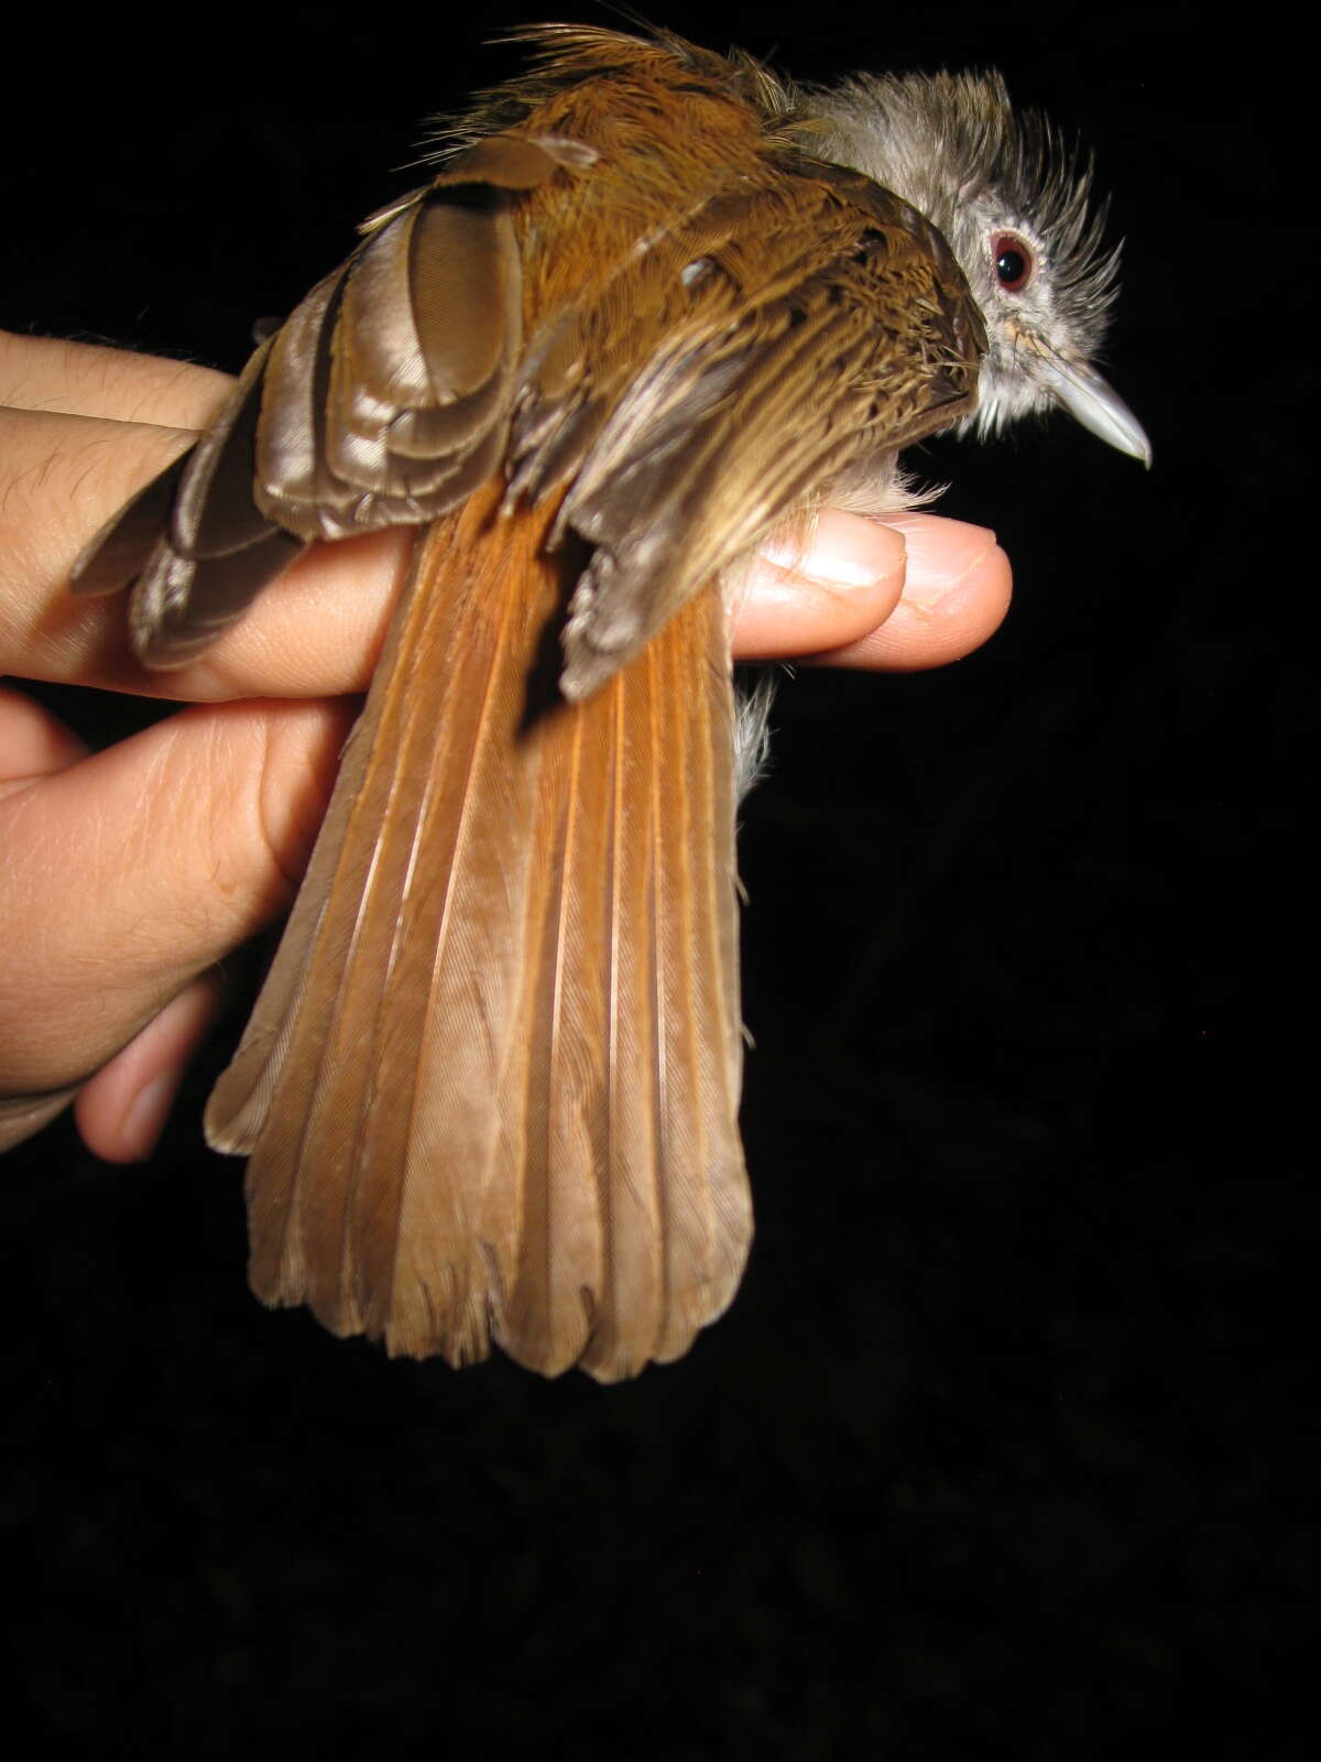
<path fill-rule="evenodd" d="M 74 1117 L 88 1151 L 107 1163 L 137 1163 L 151 1154 L 222 996 L 217 971 L 196 978 L 83 1084 Z"/>

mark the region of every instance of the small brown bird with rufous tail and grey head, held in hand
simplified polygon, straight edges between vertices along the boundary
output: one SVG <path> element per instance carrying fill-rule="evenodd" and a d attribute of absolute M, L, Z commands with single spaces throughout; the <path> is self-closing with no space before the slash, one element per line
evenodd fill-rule
<path fill-rule="evenodd" d="M 1147 444 L 1090 366 L 1089 180 L 997 78 L 528 37 L 76 585 L 136 580 L 169 668 L 305 544 L 419 529 L 206 1129 L 266 1302 L 609 1381 L 690 1346 L 752 1235 L 731 566 L 826 497 L 902 506 L 956 421 Z"/>

